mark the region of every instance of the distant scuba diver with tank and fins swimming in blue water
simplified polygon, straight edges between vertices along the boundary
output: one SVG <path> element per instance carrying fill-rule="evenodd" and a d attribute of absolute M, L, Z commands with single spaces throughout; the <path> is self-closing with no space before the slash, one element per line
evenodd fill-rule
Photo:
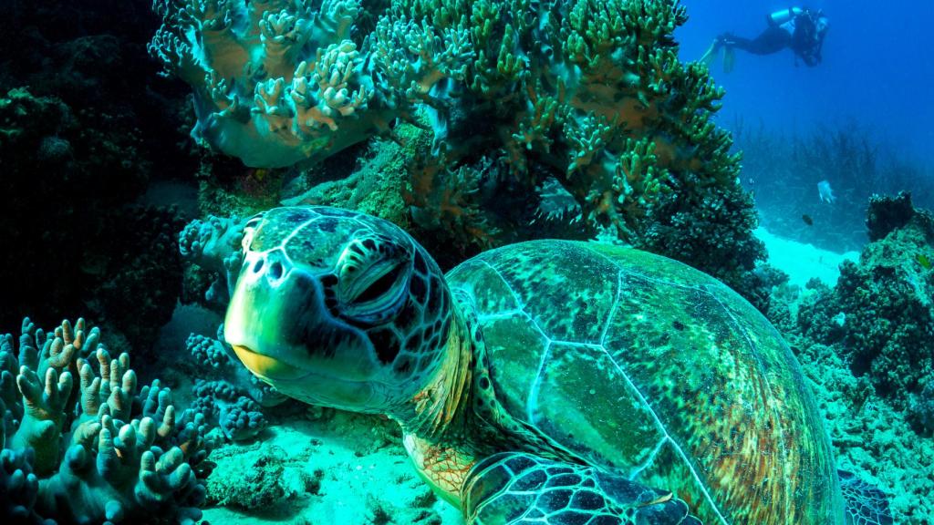
<path fill-rule="evenodd" d="M 744 50 L 756 55 L 770 55 L 785 48 L 795 53 L 810 67 L 820 64 L 821 48 L 828 31 L 828 19 L 821 10 L 807 7 L 789 7 L 775 11 L 767 17 L 769 27 L 756 38 L 742 38 L 725 33 L 714 40 L 710 49 L 701 57 L 701 62 L 710 65 L 720 50 L 723 50 L 723 69 L 729 73 L 735 61 L 733 50 Z"/>

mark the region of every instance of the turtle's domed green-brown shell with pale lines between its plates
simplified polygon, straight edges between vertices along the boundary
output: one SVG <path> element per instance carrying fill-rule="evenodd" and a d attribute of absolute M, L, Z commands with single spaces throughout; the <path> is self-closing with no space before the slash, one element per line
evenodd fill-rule
<path fill-rule="evenodd" d="M 448 274 L 502 410 L 704 523 L 842 524 L 831 448 L 782 337 L 713 277 L 643 251 L 532 241 Z"/>

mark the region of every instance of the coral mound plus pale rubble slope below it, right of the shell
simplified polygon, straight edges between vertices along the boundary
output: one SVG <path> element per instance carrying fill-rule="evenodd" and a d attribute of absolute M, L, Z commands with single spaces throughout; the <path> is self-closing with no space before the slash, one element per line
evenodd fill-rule
<path fill-rule="evenodd" d="M 873 197 L 876 240 L 859 262 L 843 262 L 833 288 L 776 286 L 768 310 L 811 381 L 839 467 L 884 490 L 896 522 L 918 525 L 934 519 L 932 224 L 908 194 Z"/>

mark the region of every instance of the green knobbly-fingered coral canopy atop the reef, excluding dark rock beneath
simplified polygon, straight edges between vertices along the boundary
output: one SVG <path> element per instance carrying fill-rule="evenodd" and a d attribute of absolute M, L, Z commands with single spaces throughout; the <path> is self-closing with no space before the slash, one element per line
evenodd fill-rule
<path fill-rule="evenodd" d="M 686 21 L 686 10 L 676 1 L 396 0 L 377 13 L 373 33 L 362 42 L 349 40 L 351 33 L 323 35 L 317 29 L 339 8 L 352 27 L 364 6 L 325 3 L 314 15 L 275 7 L 285 9 L 279 18 L 289 13 L 294 19 L 287 24 L 290 38 L 305 44 L 289 67 L 276 55 L 281 75 L 259 64 L 270 60 L 268 43 L 247 52 L 253 49 L 246 39 L 249 23 L 227 21 L 273 16 L 261 16 L 262 5 L 227 0 L 214 12 L 198 3 L 166 4 L 160 8 L 165 24 L 151 46 L 192 83 L 197 97 L 208 88 L 215 93 L 213 102 L 199 103 L 196 132 L 248 164 L 324 158 L 386 131 L 397 118 L 412 121 L 414 106 L 425 105 L 447 163 L 476 147 L 508 152 L 518 171 L 530 160 L 545 163 L 594 220 L 635 221 L 617 214 L 615 208 L 626 205 L 616 202 L 651 202 L 672 177 L 693 174 L 701 184 L 735 184 L 738 157 L 729 153 L 729 135 L 710 120 L 723 92 L 702 65 L 677 59 L 672 35 Z M 215 25 L 225 33 L 216 34 Z M 192 41 L 185 31 L 201 38 Z M 185 38 L 187 50 L 167 44 Z M 169 56 L 172 50 L 194 61 L 197 75 L 187 78 L 185 68 L 169 60 L 178 58 Z M 252 78 L 243 77 L 244 67 Z M 232 75 L 231 85 L 204 83 Z M 255 92 L 252 106 L 249 92 Z M 314 106 L 312 96 L 331 102 Z M 236 117 L 234 106 L 249 108 L 249 115 Z M 232 119 L 239 132 L 225 127 Z M 486 131 L 477 133 L 481 123 Z M 637 174 L 628 169 L 633 162 L 655 169 Z M 625 187 L 618 184 L 621 173 L 630 181 Z M 593 198 L 594 192 L 614 204 Z"/>

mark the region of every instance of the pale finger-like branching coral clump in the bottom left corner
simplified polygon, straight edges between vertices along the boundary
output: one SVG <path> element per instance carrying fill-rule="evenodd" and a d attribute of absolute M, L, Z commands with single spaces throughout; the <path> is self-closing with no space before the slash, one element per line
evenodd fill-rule
<path fill-rule="evenodd" d="M 137 392 L 129 356 L 112 359 L 83 319 L 53 333 L 23 319 L 18 341 L 0 340 L 0 407 L 3 512 L 16 522 L 200 519 L 204 418 L 177 417 L 158 381 Z"/>

